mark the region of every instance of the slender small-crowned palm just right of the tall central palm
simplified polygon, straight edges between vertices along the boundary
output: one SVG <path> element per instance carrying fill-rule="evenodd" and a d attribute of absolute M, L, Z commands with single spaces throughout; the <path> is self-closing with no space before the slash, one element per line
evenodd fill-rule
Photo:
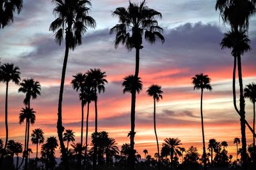
<path fill-rule="evenodd" d="M 156 134 L 156 143 L 157 143 L 157 153 L 158 153 L 158 162 L 160 167 L 160 153 L 159 153 L 159 145 L 156 133 L 156 101 L 158 102 L 160 99 L 163 99 L 163 91 L 161 90 L 161 86 L 159 85 L 151 85 L 147 90 L 148 96 L 153 96 L 154 99 L 154 131 Z"/>

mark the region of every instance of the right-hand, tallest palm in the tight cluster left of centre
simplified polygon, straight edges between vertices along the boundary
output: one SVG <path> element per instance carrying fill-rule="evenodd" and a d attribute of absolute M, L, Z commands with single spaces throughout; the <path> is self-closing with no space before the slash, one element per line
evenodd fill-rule
<path fill-rule="evenodd" d="M 97 94 L 101 92 L 105 92 L 105 83 L 108 83 L 106 80 L 106 72 L 101 71 L 100 69 L 90 69 L 87 71 L 86 81 L 90 83 L 90 87 L 94 92 L 94 103 L 95 103 L 95 134 L 98 132 L 98 110 L 97 110 L 97 101 L 98 97 Z M 96 138 L 97 140 L 97 138 Z M 95 143 L 96 146 L 93 147 L 93 170 L 96 167 L 96 159 L 97 159 L 97 142 Z"/>

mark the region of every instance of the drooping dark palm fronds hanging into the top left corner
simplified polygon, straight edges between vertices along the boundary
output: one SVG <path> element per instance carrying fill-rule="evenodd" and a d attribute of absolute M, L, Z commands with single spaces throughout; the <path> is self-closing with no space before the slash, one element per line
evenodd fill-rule
<path fill-rule="evenodd" d="M 22 0 L 0 0 L 0 29 L 13 22 L 13 13 L 19 15 L 22 9 Z"/>

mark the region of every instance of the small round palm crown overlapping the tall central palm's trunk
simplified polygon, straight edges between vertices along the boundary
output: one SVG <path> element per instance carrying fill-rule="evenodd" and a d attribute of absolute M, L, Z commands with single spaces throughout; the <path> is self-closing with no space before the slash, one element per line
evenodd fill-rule
<path fill-rule="evenodd" d="M 124 78 L 124 82 L 122 83 L 122 86 L 124 87 L 123 92 L 138 92 L 142 90 L 142 81 L 140 80 L 140 77 L 136 78 L 134 75 L 129 75 Z"/>

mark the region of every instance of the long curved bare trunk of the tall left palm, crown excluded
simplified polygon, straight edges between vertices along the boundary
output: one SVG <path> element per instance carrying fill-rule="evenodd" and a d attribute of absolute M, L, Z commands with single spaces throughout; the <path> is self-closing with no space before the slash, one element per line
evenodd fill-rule
<path fill-rule="evenodd" d="M 62 159 L 64 162 L 64 166 L 66 170 L 69 170 L 69 164 L 68 164 L 68 157 L 67 157 L 67 151 L 63 142 L 63 131 L 64 127 L 62 125 L 62 113 L 61 113 L 61 107 L 62 107 L 62 98 L 63 98 L 63 89 L 64 89 L 64 83 L 65 83 L 65 74 L 67 69 L 67 62 L 68 62 L 68 46 L 69 46 L 69 35 L 70 34 L 70 27 L 67 29 L 66 34 L 66 48 L 65 48 L 65 57 L 63 60 L 63 67 L 62 67 L 62 73 L 61 73 L 61 83 L 60 83 L 60 95 L 59 95 L 59 101 L 58 101 L 58 122 L 57 122 L 57 129 L 58 129 L 58 138 L 60 141 L 60 147 L 61 147 L 61 153 L 62 153 Z"/>

